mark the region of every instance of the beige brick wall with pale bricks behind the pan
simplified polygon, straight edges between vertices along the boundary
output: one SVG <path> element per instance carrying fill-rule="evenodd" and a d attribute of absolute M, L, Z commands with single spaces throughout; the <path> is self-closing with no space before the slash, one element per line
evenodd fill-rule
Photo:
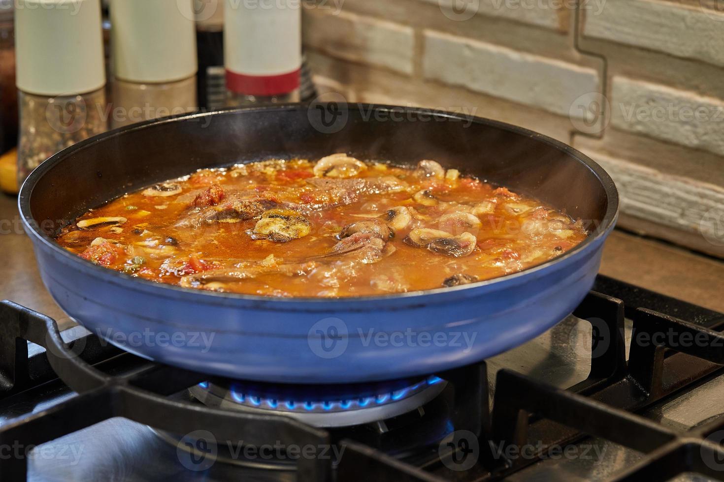
<path fill-rule="evenodd" d="M 445 108 L 577 147 L 611 173 L 620 225 L 724 256 L 718 0 L 317 0 L 323 92 Z"/>

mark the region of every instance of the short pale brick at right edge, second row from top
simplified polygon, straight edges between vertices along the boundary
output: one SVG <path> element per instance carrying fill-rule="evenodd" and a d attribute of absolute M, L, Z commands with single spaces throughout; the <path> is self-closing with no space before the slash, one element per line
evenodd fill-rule
<path fill-rule="evenodd" d="M 618 129 L 724 155 L 723 100 L 614 77 L 610 103 Z"/>

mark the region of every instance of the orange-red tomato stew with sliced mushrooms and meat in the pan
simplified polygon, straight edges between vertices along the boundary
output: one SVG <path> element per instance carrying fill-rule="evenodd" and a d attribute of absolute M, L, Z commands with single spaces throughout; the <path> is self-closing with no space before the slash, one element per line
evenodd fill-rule
<path fill-rule="evenodd" d="M 197 171 L 89 210 L 56 241 L 159 283 L 342 297 L 507 275 L 586 234 L 580 220 L 434 160 L 402 168 L 334 154 Z"/>

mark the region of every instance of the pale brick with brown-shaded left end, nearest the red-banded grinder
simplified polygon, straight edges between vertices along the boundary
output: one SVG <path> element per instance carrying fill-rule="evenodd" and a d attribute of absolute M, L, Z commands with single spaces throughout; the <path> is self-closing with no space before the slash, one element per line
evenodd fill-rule
<path fill-rule="evenodd" d="M 348 12 L 306 9 L 303 38 L 307 46 L 340 59 L 403 74 L 413 72 L 411 27 Z"/>

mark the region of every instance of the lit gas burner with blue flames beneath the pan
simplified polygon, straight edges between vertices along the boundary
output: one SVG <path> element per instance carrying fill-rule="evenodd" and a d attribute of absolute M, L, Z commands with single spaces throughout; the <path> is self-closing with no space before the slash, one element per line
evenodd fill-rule
<path fill-rule="evenodd" d="M 277 413 L 318 427 L 344 427 L 416 410 L 445 389 L 438 376 L 348 385 L 266 385 L 201 382 L 189 390 L 204 405 Z"/>

